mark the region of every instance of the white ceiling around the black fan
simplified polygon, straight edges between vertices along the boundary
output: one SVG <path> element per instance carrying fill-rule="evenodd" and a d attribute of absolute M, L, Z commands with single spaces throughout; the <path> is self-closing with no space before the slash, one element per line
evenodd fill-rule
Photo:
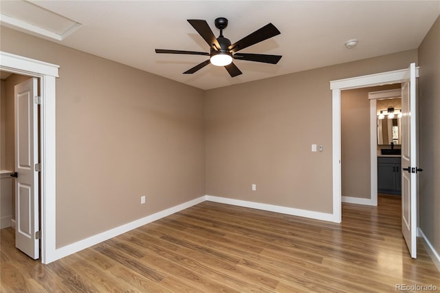
<path fill-rule="evenodd" d="M 415 49 L 440 14 L 440 0 L 31 2 L 82 24 L 51 41 L 201 89 Z M 277 65 L 234 61 L 243 74 L 231 78 L 213 65 L 182 74 L 207 56 L 155 54 L 155 48 L 209 52 L 186 19 L 205 19 L 218 36 L 217 17 L 229 20 L 223 35 L 232 43 L 273 23 L 280 35 L 241 52 L 283 58 Z M 358 46 L 344 47 L 349 39 Z"/>

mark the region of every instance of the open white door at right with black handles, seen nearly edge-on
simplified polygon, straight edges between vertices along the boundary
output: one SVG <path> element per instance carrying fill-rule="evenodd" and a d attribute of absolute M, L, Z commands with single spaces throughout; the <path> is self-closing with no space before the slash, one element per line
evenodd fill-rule
<path fill-rule="evenodd" d="M 417 96 L 415 63 L 401 83 L 401 231 L 412 258 L 417 258 Z"/>

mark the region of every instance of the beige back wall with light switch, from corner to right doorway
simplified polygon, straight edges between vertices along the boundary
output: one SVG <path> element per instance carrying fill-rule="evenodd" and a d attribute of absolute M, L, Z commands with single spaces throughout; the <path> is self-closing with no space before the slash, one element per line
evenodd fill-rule
<path fill-rule="evenodd" d="M 330 80 L 410 62 L 417 50 L 206 91 L 206 193 L 332 213 Z"/>

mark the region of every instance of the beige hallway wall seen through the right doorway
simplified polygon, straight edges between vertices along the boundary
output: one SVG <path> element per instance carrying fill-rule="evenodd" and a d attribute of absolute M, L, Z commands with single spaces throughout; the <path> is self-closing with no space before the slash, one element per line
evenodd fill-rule
<path fill-rule="evenodd" d="M 369 92 L 399 87 L 396 84 L 341 91 L 342 196 L 371 198 Z"/>

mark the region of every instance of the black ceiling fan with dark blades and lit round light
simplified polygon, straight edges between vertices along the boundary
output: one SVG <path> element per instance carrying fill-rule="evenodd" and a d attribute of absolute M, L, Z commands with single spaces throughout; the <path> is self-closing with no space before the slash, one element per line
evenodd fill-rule
<path fill-rule="evenodd" d="M 260 43 L 261 41 L 265 41 L 273 36 L 281 34 L 281 32 L 275 28 L 275 25 L 272 23 L 268 23 L 267 25 L 263 26 L 263 28 L 252 32 L 252 34 L 245 36 L 243 39 L 233 44 L 231 44 L 229 39 L 226 39 L 223 36 L 223 30 L 228 26 L 228 19 L 225 19 L 224 17 L 219 17 L 214 21 L 215 27 L 220 30 L 220 35 L 218 38 L 214 36 L 206 21 L 200 19 L 188 19 L 188 23 L 190 23 L 190 25 L 197 30 L 206 43 L 208 43 L 210 46 L 209 53 L 182 50 L 155 50 L 156 53 L 159 54 L 164 53 L 210 56 L 207 61 L 203 61 L 195 67 L 188 69 L 186 72 L 184 72 L 184 74 L 193 74 L 197 72 L 197 70 L 211 63 L 212 65 L 216 66 L 224 66 L 226 70 L 228 70 L 230 76 L 234 77 L 242 74 L 242 72 L 232 62 L 232 59 L 276 64 L 282 57 L 279 55 L 237 53 L 246 47 L 250 47 L 256 43 Z"/>

